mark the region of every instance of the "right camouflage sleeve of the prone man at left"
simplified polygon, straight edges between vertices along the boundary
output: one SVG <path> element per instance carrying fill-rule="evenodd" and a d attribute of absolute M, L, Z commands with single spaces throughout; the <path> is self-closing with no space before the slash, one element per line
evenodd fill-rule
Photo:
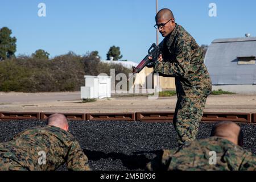
<path fill-rule="evenodd" d="M 67 167 L 72 171 L 90 171 L 88 158 L 76 140 L 68 152 Z"/>

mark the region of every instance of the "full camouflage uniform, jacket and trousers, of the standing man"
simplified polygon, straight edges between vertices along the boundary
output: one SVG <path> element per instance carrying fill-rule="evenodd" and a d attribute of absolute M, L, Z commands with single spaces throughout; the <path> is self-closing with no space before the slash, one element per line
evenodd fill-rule
<path fill-rule="evenodd" d="M 160 12 L 160 11 L 159 11 Z M 179 24 L 164 38 L 162 61 L 157 61 L 154 73 L 175 77 L 177 104 L 174 127 L 179 145 L 195 140 L 212 82 L 204 64 L 202 49 Z"/>

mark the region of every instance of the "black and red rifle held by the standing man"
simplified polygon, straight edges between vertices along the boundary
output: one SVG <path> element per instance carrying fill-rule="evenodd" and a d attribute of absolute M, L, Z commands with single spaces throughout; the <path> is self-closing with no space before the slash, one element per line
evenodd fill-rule
<path fill-rule="evenodd" d="M 137 67 L 133 66 L 133 75 L 131 75 L 128 78 L 128 81 L 134 76 L 135 73 L 141 72 L 144 67 L 148 67 L 148 68 L 154 67 L 156 61 L 159 58 L 159 55 L 161 54 L 163 42 L 164 40 L 158 46 L 156 46 L 155 43 L 150 46 L 150 48 L 147 51 L 148 55 L 144 57 L 144 59 L 141 61 L 141 63 L 137 65 Z M 151 60 L 148 59 L 149 56 L 152 57 Z"/>

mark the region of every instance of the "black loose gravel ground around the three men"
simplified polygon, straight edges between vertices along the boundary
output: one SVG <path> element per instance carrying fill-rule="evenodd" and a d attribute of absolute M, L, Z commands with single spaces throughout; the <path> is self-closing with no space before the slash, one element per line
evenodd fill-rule
<path fill-rule="evenodd" d="M 0 142 L 10 140 L 27 128 L 44 126 L 46 121 L 0 122 Z M 198 138 L 209 137 L 214 123 L 201 123 Z M 256 125 L 240 124 L 245 146 L 256 154 Z M 143 170 L 163 148 L 177 146 L 172 123 L 126 121 L 69 121 L 69 129 L 89 158 L 93 170 Z M 65 166 L 59 170 L 66 170 Z"/>

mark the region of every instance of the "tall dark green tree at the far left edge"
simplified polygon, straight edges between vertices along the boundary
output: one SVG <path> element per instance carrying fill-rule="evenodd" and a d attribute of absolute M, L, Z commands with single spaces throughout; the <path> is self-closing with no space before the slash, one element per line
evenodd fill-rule
<path fill-rule="evenodd" d="M 12 38 L 11 34 L 11 30 L 7 27 L 0 29 L 0 60 L 10 58 L 16 52 L 16 38 Z"/>

